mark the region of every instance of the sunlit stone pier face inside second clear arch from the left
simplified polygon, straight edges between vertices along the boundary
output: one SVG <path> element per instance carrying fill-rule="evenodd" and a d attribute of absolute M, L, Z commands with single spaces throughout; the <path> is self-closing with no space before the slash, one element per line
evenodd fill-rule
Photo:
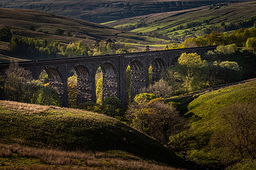
<path fill-rule="evenodd" d="M 90 77 L 77 76 L 77 105 L 92 101 L 92 80 Z"/>

